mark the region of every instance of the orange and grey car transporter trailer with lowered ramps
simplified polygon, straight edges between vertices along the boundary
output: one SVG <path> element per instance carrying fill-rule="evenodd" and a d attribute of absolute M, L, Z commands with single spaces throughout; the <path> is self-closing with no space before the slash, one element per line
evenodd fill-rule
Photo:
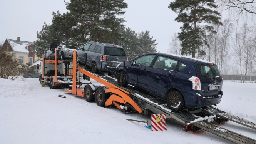
<path fill-rule="evenodd" d="M 79 58 L 78 58 L 79 59 Z M 78 60 L 79 61 L 79 60 Z M 73 63 L 73 76 L 63 76 L 61 69 Z M 104 86 L 96 86 L 89 83 L 82 83 L 80 76 L 77 76 L 77 71 L 84 74 L 84 78 L 92 78 L 95 81 L 103 84 Z M 80 75 L 80 74 L 78 74 Z M 78 77 L 78 78 L 77 78 Z M 217 136 L 223 137 L 229 141 L 236 144 L 256 144 L 256 140 L 250 137 L 243 136 L 233 131 L 229 131 L 220 126 L 212 124 L 212 122 L 217 122 L 222 124 L 227 121 L 233 121 L 243 126 L 252 128 L 256 130 L 256 124 L 248 121 L 246 119 L 234 116 L 232 114 L 226 113 L 214 106 L 207 106 L 197 109 L 184 109 L 182 111 L 173 112 L 168 108 L 166 102 L 159 99 L 151 94 L 134 89 L 133 86 L 120 87 L 117 83 L 117 79 L 105 74 L 95 74 L 90 71 L 90 69 L 80 66 L 76 63 L 76 51 L 73 50 L 73 60 L 57 60 L 57 53 L 55 49 L 55 59 L 54 60 L 44 60 L 42 61 L 42 76 L 40 76 L 40 83 L 45 82 L 50 85 L 50 88 L 63 88 L 65 92 L 85 97 L 86 94 L 91 96 L 97 96 L 99 98 L 96 103 L 99 106 L 110 106 L 115 105 L 122 111 L 133 110 L 139 113 L 148 114 L 166 114 L 166 119 L 171 119 L 174 122 L 182 124 L 184 131 L 198 132 L 201 130 L 208 131 Z M 90 86 L 94 91 L 88 91 L 88 86 Z M 90 89 L 90 90 L 92 90 Z M 100 93 L 97 95 L 92 94 L 98 90 Z M 103 90 L 103 93 L 102 93 Z M 102 103 L 103 105 L 100 103 Z M 200 116 L 208 116 L 209 119 L 200 120 Z"/>

